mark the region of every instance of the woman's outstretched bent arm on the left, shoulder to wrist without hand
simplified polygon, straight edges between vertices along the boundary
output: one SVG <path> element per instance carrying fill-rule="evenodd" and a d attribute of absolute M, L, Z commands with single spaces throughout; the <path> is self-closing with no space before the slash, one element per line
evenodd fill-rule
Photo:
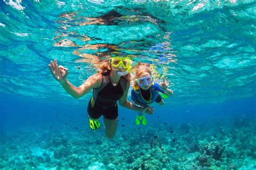
<path fill-rule="evenodd" d="M 89 93 L 92 88 L 97 88 L 102 83 L 102 75 L 95 74 L 90 76 L 81 86 L 74 86 L 68 79 L 65 79 L 62 84 L 62 87 L 74 98 L 79 98 Z"/>

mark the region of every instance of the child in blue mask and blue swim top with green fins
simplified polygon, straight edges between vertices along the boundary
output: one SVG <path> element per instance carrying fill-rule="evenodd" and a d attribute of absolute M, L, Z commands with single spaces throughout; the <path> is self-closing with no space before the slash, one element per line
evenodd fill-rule
<path fill-rule="evenodd" d="M 137 66 L 135 81 L 133 83 L 132 90 L 132 101 L 139 105 L 140 107 L 149 107 L 148 104 L 157 102 L 159 105 L 164 104 L 162 97 L 167 98 L 173 95 L 173 91 L 167 89 L 169 82 L 163 78 L 163 82 L 158 84 L 154 82 L 151 74 L 150 65 L 140 63 Z M 160 96 L 158 91 L 161 93 Z M 143 125 L 147 124 L 145 114 L 143 112 L 138 112 L 135 123 L 137 125 L 142 122 Z"/>

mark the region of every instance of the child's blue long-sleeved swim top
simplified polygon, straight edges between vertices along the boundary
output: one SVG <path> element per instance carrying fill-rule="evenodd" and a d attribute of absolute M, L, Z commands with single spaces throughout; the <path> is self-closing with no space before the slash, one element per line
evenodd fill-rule
<path fill-rule="evenodd" d="M 153 102 L 161 102 L 162 98 L 158 94 L 158 91 L 164 93 L 164 90 L 160 88 L 159 84 L 154 82 L 153 85 L 147 89 L 143 90 L 139 86 L 133 86 L 132 90 L 132 100 L 139 101 L 143 104 L 151 104 Z"/>

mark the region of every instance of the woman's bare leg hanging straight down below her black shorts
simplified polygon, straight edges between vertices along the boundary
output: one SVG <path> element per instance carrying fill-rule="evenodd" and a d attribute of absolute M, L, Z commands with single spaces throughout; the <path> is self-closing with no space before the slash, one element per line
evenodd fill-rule
<path fill-rule="evenodd" d="M 116 119 L 108 119 L 104 116 L 104 124 L 105 124 L 105 133 L 106 137 L 112 139 L 114 134 L 117 131 L 117 118 Z"/>

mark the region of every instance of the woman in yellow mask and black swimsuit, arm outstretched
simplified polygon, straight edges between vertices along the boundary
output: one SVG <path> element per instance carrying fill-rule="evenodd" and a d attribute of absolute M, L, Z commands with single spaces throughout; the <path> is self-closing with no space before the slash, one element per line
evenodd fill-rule
<path fill-rule="evenodd" d="M 74 98 L 79 98 L 93 89 L 87 112 L 91 129 L 100 128 L 97 121 L 104 115 L 105 133 L 107 138 L 113 138 L 117 130 L 118 108 L 117 101 L 125 108 L 139 112 L 152 114 L 153 109 L 140 108 L 127 101 L 127 93 L 130 88 L 131 60 L 128 58 L 112 58 L 111 63 L 100 65 L 100 71 L 90 76 L 81 86 L 75 87 L 67 79 L 69 70 L 57 65 L 57 60 L 51 61 L 49 68 L 53 77 Z"/>

